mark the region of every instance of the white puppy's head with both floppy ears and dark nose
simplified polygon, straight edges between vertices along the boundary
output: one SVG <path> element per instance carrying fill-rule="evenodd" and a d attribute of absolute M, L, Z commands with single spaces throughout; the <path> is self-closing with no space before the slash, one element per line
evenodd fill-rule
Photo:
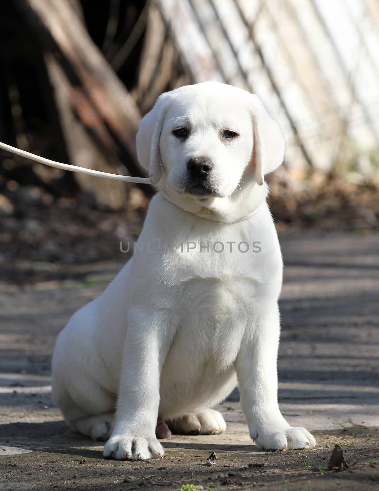
<path fill-rule="evenodd" d="M 246 181 L 262 185 L 283 161 L 284 137 L 258 96 L 204 82 L 159 97 L 141 121 L 137 154 L 153 184 L 222 198 Z"/>

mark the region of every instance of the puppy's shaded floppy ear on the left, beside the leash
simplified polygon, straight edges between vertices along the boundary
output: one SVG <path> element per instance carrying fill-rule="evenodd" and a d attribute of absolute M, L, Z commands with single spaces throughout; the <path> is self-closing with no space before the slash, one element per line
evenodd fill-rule
<path fill-rule="evenodd" d="M 153 109 L 142 118 L 136 136 L 138 161 L 143 167 L 149 169 L 150 181 L 154 185 L 162 176 L 159 140 L 169 99 L 167 92 L 159 96 Z"/>

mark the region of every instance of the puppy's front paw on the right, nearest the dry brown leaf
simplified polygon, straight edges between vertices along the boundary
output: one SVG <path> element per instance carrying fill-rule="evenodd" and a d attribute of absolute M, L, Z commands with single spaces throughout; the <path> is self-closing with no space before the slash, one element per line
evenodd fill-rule
<path fill-rule="evenodd" d="M 300 450 L 316 446 L 315 438 L 305 428 L 265 429 L 257 431 L 255 444 L 264 450 Z"/>

